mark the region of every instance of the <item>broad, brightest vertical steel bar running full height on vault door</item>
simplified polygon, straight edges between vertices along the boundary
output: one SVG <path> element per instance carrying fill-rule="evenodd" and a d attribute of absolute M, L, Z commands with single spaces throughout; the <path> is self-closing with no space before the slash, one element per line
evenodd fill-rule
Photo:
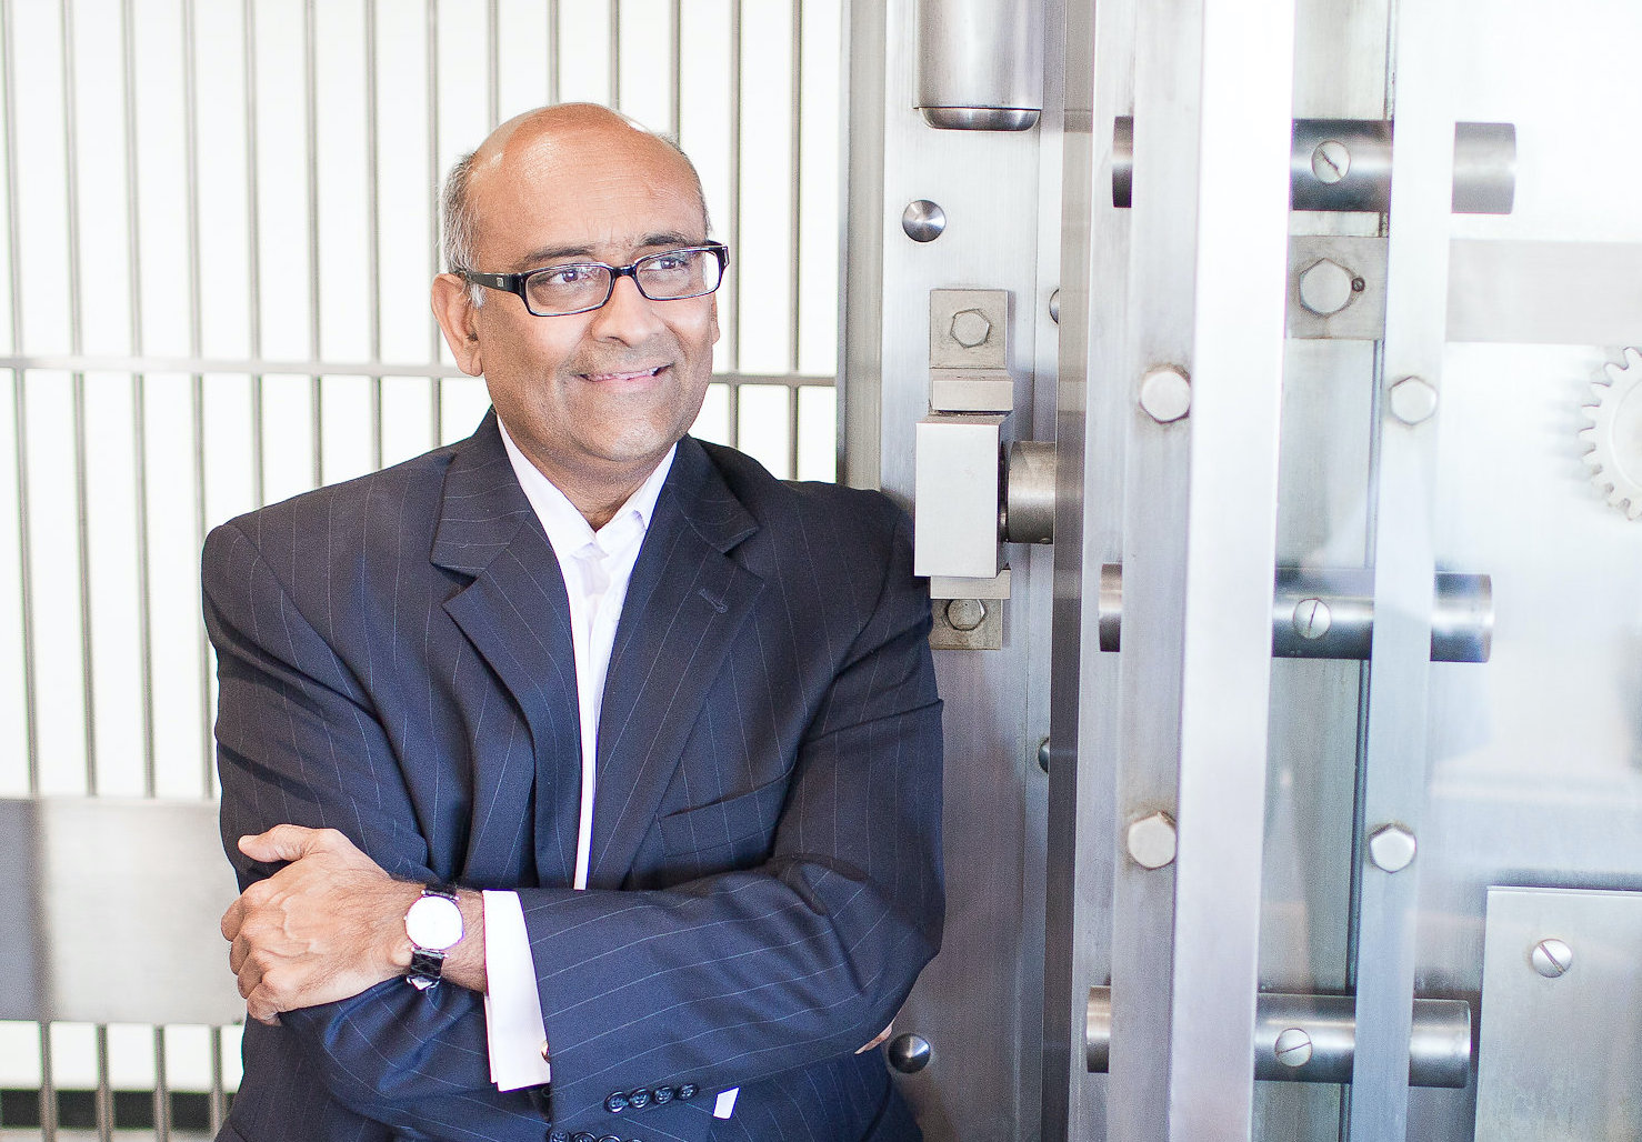
<path fill-rule="evenodd" d="M 1169 1137 L 1248 1139 L 1277 543 L 1294 0 L 1205 0 Z"/>

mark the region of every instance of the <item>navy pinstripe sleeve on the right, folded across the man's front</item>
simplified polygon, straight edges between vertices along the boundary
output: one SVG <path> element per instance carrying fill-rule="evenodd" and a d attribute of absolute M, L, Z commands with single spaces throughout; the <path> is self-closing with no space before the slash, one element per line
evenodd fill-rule
<path fill-rule="evenodd" d="M 713 1093 L 847 1055 L 939 948 L 941 704 L 906 530 L 901 515 L 762 866 L 667 891 L 521 893 L 555 1124 L 616 1089 Z"/>

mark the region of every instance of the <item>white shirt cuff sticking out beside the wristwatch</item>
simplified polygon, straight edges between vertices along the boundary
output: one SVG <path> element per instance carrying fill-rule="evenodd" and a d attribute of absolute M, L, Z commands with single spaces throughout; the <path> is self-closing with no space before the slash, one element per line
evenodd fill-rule
<path fill-rule="evenodd" d="M 484 893 L 484 1039 L 499 1091 L 540 1086 L 547 1065 L 542 996 L 517 893 Z"/>

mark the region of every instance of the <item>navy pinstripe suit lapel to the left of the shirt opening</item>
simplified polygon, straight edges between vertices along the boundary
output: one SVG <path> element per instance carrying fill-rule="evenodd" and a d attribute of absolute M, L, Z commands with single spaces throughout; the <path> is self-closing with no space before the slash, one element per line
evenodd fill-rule
<path fill-rule="evenodd" d="M 455 448 L 430 555 L 438 566 L 475 576 L 445 610 L 501 678 L 530 729 L 529 742 L 516 740 L 512 719 L 478 710 L 466 879 L 506 883 L 517 875 L 517 850 L 529 837 L 521 825 L 530 822 L 535 883 L 568 884 L 581 771 L 570 604 L 553 548 L 507 461 L 494 412 Z M 566 807 L 568 829 L 558 820 Z M 530 870 L 522 871 L 529 881 Z"/>

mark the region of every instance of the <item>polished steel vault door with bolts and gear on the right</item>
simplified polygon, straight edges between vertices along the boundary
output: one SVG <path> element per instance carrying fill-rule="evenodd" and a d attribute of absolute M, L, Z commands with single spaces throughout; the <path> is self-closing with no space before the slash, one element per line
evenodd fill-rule
<path fill-rule="evenodd" d="M 1043 1137 L 1642 1137 L 1642 10 L 1066 16 Z"/>

